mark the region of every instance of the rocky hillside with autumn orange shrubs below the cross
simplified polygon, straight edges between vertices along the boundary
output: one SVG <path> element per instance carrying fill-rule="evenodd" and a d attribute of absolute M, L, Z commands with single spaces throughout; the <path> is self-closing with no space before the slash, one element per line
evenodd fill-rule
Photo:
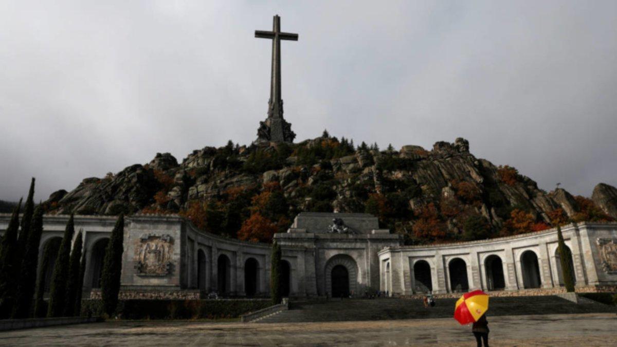
<path fill-rule="evenodd" d="M 553 222 L 617 217 L 617 190 L 600 183 L 593 200 L 547 193 L 513 167 L 469 151 L 468 141 L 433 149 L 379 151 L 326 132 L 298 144 L 205 147 L 179 164 L 158 153 L 46 201 L 52 213 L 179 213 L 200 228 L 243 240 L 271 240 L 298 212 L 369 212 L 405 242 L 475 240 L 548 228 Z"/>

